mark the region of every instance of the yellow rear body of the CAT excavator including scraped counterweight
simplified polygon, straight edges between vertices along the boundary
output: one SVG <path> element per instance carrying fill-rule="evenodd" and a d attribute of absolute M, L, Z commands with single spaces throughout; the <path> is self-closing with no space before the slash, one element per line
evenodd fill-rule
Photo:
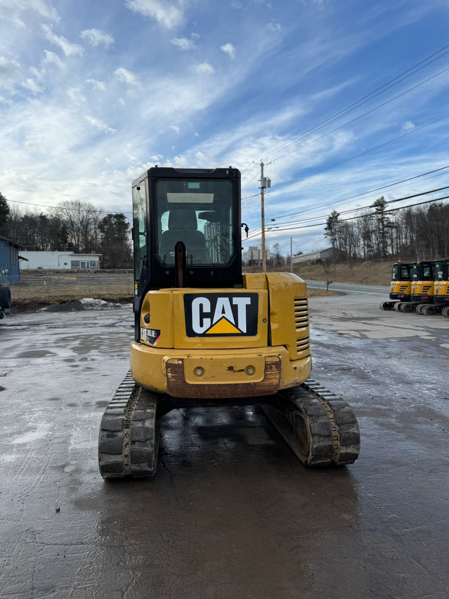
<path fill-rule="evenodd" d="M 238 300 L 248 292 L 257 294 L 255 334 L 225 317 L 210 320 L 210 335 L 187 334 L 186 295 Z M 254 397 L 301 385 L 311 373 L 307 285 L 295 274 L 245 274 L 241 289 L 149 291 L 140 325 L 141 341 L 131 343 L 131 374 L 150 391 L 197 399 Z"/>

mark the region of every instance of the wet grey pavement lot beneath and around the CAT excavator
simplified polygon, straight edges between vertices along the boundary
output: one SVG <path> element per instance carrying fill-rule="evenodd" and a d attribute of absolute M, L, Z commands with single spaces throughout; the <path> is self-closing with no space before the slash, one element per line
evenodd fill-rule
<path fill-rule="evenodd" d="M 104 482 L 131 310 L 2 320 L 0 597 L 447 598 L 449 320 L 337 297 L 311 322 L 354 465 L 302 467 L 257 408 L 192 409 L 165 416 L 154 479 Z"/>

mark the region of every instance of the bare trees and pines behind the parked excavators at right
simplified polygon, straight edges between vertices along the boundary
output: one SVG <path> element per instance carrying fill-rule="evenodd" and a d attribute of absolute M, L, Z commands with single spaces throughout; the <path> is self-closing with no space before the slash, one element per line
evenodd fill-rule
<path fill-rule="evenodd" d="M 340 219 L 334 210 L 324 230 L 348 259 L 449 257 L 449 204 L 444 202 L 392 210 L 382 196 L 355 217 Z"/>

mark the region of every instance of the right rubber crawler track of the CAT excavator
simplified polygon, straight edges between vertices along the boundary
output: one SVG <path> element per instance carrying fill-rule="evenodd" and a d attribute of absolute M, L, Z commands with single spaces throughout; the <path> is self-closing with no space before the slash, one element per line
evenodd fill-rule
<path fill-rule="evenodd" d="M 262 408 L 303 464 L 344 465 L 358 458 L 356 416 L 347 402 L 314 380 L 279 392 Z"/>

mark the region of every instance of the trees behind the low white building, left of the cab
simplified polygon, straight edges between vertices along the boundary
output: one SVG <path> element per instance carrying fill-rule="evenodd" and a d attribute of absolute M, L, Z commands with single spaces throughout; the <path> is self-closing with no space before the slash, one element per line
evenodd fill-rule
<path fill-rule="evenodd" d="M 65 200 L 46 213 L 10 207 L 0 194 L 0 235 L 26 250 L 100 253 L 104 268 L 132 267 L 131 228 L 123 213 Z M 6 206 L 6 208 L 5 208 Z"/>

